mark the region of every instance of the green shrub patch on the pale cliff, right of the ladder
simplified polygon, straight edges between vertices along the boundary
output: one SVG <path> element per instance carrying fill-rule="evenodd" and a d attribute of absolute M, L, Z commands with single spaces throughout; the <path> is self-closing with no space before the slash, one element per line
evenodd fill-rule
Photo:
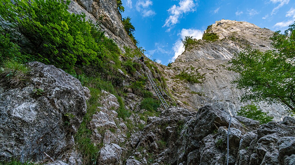
<path fill-rule="evenodd" d="M 205 79 L 204 75 L 201 75 L 197 70 L 191 69 L 191 73 L 189 73 L 189 68 L 181 70 L 181 72 L 176 75 L 174 78 L 179 80 L 186 80 L 190 83 L 203 83 L 203 79 Z"/>

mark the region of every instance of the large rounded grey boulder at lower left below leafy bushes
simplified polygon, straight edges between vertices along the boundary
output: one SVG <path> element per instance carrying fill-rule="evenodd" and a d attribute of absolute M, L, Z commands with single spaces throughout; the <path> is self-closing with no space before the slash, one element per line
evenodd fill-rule
<path fill-rule="evenodd" d="M 27 64 L 25 87 L 0 84 L 0 160 L 55 158 L 74 145 L 73 134 L 86 113 L 89 90 L 53 65 Z"/>

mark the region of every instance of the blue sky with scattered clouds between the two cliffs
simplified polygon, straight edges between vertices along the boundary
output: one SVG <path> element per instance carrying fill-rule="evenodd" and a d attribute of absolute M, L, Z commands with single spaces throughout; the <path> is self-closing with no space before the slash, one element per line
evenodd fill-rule
<path fill-rule="evenodd" d="M 260 28 L 285 31 L 295 21 L 295 0 L 122 0 L 122 17 L 130 16 L 135 38 L 150 59 L 167 65 L 184 48 L 181 38 L 200 39 L 221 19 L 247 21 Z"/>

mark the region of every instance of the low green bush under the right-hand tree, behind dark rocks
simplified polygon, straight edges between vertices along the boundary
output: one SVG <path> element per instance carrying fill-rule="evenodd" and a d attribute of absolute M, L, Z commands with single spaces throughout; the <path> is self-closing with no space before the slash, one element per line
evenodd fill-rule
<path fill-rule="evenodd" d="M 240 111 L 237 112 L 237 115 L 257 120 L 260 124 L 266 124 L 273 119 L 273 117 L 268 116 L 267 113 L 262 112 L 262 110 L 259 110 L 258 106 L 253 104 L 241 107 Z"/>

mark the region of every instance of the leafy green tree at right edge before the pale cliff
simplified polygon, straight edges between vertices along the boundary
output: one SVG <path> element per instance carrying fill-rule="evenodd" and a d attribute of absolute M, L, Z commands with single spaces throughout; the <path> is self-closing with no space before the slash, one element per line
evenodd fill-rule
<path fill-rule="evenodd" d="M 274 50 L 248 48 L 229 61 L 228 69 L 239 73 L 233 83 L 247 90 L 242 100 L 283 103 L 295 113 L 295 23 L 289 27 L 274 33 Z"/>

